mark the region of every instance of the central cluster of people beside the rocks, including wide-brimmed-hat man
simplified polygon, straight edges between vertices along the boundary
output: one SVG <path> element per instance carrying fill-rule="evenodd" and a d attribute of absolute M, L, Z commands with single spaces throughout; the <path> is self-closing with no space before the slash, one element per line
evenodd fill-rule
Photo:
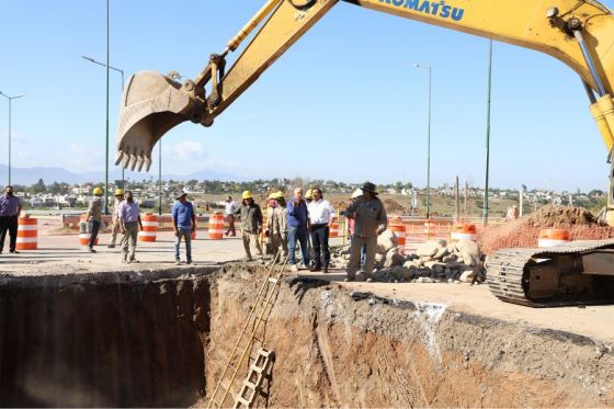
<path fill-rule="evenodd" d="M 352 226 L 350 263 L 345 281 L 356 280 L 359 269 L 364 272 L 366 281 L 372 281 L 377 236 L 386 230 L 386 209 L 377 197 L 373 183 L 366 182 L 362 189 L 352 194 L 352 204 L 342 212 Z M 291 271 L 299 269 L 329 272 L 330 263 L 330 228 L 337 217 L 333 206 L 323 198 L 320 188 L 311 188 L 306 194 L 303 188 L 296 188 L 286 202 L 282 191 L 273 192 L 268 197 L 266 221 L 255 203 L 251 192 L 245 191 L 241 203 L 237 204 L 231 196 L 226 200 L 226 235 L 236 235 L 235 219 L 241 221 L 242 242 L 246 260 L 252 261 L 251 247 L 258 252 L 258 260 L 264 263 L 264 253 L 259 236 L 268 238 L 271 253 L 276 261 L 289 264 Z M 300 248 L 302 263 L 296 260 L 296 251 Z"/>

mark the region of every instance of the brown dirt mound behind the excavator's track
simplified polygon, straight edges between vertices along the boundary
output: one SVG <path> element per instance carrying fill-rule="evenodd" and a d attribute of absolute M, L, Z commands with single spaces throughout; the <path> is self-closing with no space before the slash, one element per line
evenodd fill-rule
<path fill-rule="evenodd" d="M 486 254 L 504 248 L 534 248 L 543 228 L 567 229 L 571 240 L 614 237 L 614 228 L 584 208 L 548 205 L 525 218 L 486 228 L 478 235 L 478 243 Z"/>

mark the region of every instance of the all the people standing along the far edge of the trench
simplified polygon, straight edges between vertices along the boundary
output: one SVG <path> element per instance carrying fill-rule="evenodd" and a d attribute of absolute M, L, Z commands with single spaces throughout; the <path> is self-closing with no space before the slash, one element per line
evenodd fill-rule
<path fill-rule="evenodd" d="M 364 271 L 365 279 L 371 281 L 373 272 L 377 236 L 386 230 L 386 209 L 377 197 L 375 185 L 366 182 L 362 189 L 352 194 L 352 204 L 342 212 L 350 220 L 351 248 L 348 265 L 346 281 L 354 281 L 359 269 Z M 88 250 L 95 253 L 98 234 L 102 224 L 102 196 L 101 188 L 93 190 L 86 219 L 90 225 Z M 194 206 L 186 200 L 186 193 L 179 192 L 174 195 L 177 202 L 172 208 L 173 231 L 175 235 L 174 258 L 181 264 L 180 246 L 185 241 L 185 263 L 192 263 L 191 239 L 196 230 L 196 215 Z M 337 213 L 329 201 L 325 200 L 320 188 L 311 188 L 306 194 L 303 188 L 296 188 L 292 197 L 286 202 L 282 191 L 272 192 L 268 197 L 266 221 L 263 224 L 262 211 L 253 200 L 251 192 L 245 191 L 242 201 L 237 204 L 231 196 L 226 200 L 226 220 L 228 229 L 226 235 L 236 236 L 235 219 L 241 221 L 241 238 L 246 251 L 246 260 L 252 261 L 251 247 L 258 253 L 258 261 L 264 263 L 264 252 L 260 241 L 260 234 L 268 239 L 268 247 L 273 261 L 286 263 L 289 269 L 297 272 L 299 269 L 329 272 L 330 264 L 330 229 L 336 220 Z M 7 232 L 10 236 L 10 251 L 16 253 L 15 241 L 18 218 L 21 212 L 21 202 L 7 186 L 0 196 L 0 252 L 2 252 Z M 114 248 L 117 235 L 122 234 L 122 262 L 138 263 L 136 246 L 139 230 L 143 230 L 138 203 L 130 191 L 122 189 L 115 191 L 113 204 L 111 243 Z M 300 249 L 300 263 L 297 262 L 296 252 Z M 287 261 L 286 261 L 287 259 Z"/>

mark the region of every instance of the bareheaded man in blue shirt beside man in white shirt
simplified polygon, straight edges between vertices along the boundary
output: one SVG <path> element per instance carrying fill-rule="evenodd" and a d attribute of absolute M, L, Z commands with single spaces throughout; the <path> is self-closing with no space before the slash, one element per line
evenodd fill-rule
<path fill-rule="evenodd" d="M 303 198 L 303 188 L 294 190 L 294 196 L 288 201 L 287 221 L 288 221 L 288 251 L 289 251 L 289 266 L 291 270 L 296 272 L 296 242 L 300 242 L 300 252 L 303 253 L 303 264 L 305 268 L 309 265 L 309 251 L 307 251 L 307 225 L 309 223 L 307 204 Z"/>

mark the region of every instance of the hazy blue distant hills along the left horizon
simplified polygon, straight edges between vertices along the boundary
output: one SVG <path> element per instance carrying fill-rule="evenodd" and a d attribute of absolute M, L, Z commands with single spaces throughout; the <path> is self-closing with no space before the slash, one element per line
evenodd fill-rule
<path fill-rule="evenodd" d="M 128 180 L 144 180 L 144 179 L 158 179 L 157 172 L 125 172 L 125 178 Z M 104 182 L 104 171 L 102 172 L 84 172 L 75 173 L 62 168 L 12 168 L 11 169 L 11 183 L 12 184 L 23 184 L 31 185 L 43 179 L 45 184 L 53 182 L 66 182 L 66 183 L 102 183 Z M 109 172 L 109 181 L 122 179 L 122 171 L 120 169 L 112 169 Z M 220 180 L 220 181 L 245 181 L 246 178 L 238 177 L 236 174 L 220 173 L 214 170 L 202 170 L 192 174 L 166 174 L 162 173 L 163 180 L 175 180 L 175 181 L 187 181 L 187 180 Z M 7 184 L 9 180 L 9 167 L 5 164 L 0 164 L 0 184 Z"/>

